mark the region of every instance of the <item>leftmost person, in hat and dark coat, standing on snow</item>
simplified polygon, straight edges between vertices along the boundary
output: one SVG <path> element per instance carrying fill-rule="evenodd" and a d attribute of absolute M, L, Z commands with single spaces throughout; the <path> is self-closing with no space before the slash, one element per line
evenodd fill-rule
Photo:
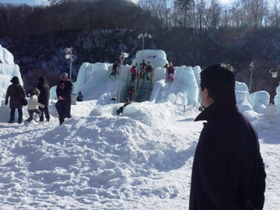
<path fill-rule="evenodd" d="M 19 84 L 19 78 L 17 76 L 14 76 L 11 79 L 11 85 L 9 85 L 7 92 L 6 92 L 6 98 L 5 98 L 5 104 L 8 105 L 8 101 L 10 99 L 10 120 L 9 123 L 13 123 L 15 121 L 15 111 L 18 110 L 18 123 L 22 123 L 22 104 L 20 101 L 21 96 L 26 97 L 25 91 L 23 87 Z"/>

